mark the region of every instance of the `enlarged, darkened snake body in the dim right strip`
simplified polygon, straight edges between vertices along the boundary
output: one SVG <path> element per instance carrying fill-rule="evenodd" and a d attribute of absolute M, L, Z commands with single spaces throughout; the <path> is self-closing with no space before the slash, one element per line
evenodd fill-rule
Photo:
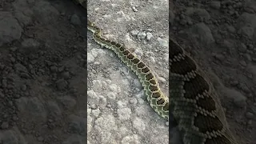
<path fill-rule="evenodd" d="M 214 87 L 178 43 L 170 39 L 170 110 L 186 144 L 238 144 Z"/>

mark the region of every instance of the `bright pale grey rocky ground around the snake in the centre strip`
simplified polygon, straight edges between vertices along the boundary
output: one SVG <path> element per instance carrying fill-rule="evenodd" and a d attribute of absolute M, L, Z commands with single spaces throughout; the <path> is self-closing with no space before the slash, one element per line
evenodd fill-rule
<path fill-rule="evenodd" d="M 145 59 L 168 90 L 168 2 L 88 1 L 88 18 L 104 37 L 125 44 Z M 169 141 L 168 122 L 155 114 L 135 74 L 88 32 L 88 142 Z"/>

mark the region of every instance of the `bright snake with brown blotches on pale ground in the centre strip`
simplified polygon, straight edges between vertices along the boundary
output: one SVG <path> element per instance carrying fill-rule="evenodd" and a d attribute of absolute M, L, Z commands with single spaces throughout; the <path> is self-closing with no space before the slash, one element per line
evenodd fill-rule
<path fill-rule="evenodd" d="M 162 118 L 169 120 L 169 98 L 160 90 L 158 81 L 149 67 L 146 66 L 142 60 L 137 58 L 136 55 L 127 50 L 125 46 L 117 42 L 107 40 L 106 38 L 102 38 L 101 30 L 95 26 L 94 23 L 88 21 L 87 28 L 93 32 L 95 42 L 113 50 L 114 53 L 118 55 L 118 58 L 120 58 L 122 62 L 130 68 L 130 70 L 134 71 L 142 83 L 150 106 L 155 112 L 162 116 Z"/>

